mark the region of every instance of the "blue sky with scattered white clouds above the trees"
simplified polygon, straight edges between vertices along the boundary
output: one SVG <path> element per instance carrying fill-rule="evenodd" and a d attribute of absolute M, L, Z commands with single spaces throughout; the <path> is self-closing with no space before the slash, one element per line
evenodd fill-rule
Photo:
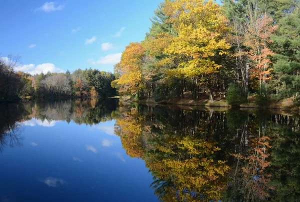
<path fill-rule="evenodd" d="M 113 64 L 140 41 L 161 0 L 5 0 L 0 6 L 0 54 L 21 56 L 17 70 L 97 68 Z"/>

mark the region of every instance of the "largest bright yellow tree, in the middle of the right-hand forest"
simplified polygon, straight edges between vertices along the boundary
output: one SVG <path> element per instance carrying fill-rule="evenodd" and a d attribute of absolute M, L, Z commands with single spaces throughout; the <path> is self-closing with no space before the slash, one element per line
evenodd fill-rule
<path fill-rule="evenodd" d="M 165 52 L 181 58 L 178 67 L 169 70 L 169 75 L 205 77 L 217 72 L 221 65 L 214 57 L 226 53 L 230 47 L 224 37 L 226 18 L 220 5 L 213 0 L 167 0 L 163 9 L 171 16 L 168 20 L 177 32 Z"/>

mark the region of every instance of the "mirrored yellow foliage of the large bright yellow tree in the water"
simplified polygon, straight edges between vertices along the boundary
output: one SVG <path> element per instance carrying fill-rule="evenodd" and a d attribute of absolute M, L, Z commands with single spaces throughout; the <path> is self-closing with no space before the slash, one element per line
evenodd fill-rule
<path fill-rule="evenodd" d="M 220 150 L 214 142 L 187 135 L 156 141 L 152 147 L 154 152 L 147 153 L 144 158 L 146 166 L 160 179 L 172 178 L 173 186 L 165 187 L 163 201 L 197 201 L 197 197 L 211 201 L 220 198 L 226 186 L 224 175 L 229 167 L 225 161 L 211 157 Z M 162 155 L 159 154 L 161 152 Z"/>

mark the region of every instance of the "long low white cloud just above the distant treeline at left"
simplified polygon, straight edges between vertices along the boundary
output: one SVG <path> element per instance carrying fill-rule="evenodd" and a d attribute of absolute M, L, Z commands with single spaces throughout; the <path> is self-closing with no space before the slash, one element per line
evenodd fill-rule
<path fill-rule="evenodd" d="M 19 64 L 14 68 L 16 71 L 23 71 L 26 73 L 30 73 L 31 75 L 34 75 L 36 73 L 47 73 L 48 71 L 50 72 L 57 72 L 57 73 L 62 73 L 64 72 L 63 69 L 57 68 L 54 64 L 52 63 L 42 63 L 42 64 Z"/>

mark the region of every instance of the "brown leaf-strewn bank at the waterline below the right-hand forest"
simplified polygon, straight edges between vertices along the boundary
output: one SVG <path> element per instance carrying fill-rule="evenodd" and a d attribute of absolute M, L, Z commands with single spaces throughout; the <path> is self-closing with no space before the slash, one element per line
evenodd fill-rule
<path fill-rule="evenodd" d="M 161 101 L 155 101 L 153 97 L 148 97 L 145 99 L 135 99 L 130 97 L 120 97 L 120 100 L 126 102 L 137 102 L 145 104 L 175 104 L 175 105 L 187 105 L 187 106 L 209 106 L 209 107 L 233 107 L 228 104 L 225 99 L 216 99 L 210 102 L 209 99 L 199 99 L 193 100 L 190 96 L 184 98 L 173 98 L 173 99 L 163 99 Z M 300 106 L 296 105 L 291 98 L 286 98 L 283 100 L 268 100 L 264 104 L 258 104 L 253 98 L 250 98 L 248 102 L 241 103 L 234 107 L 239 108 L 257 108 L 257 109 L 279 109 L 285 111 L 299 112 Z"/>

